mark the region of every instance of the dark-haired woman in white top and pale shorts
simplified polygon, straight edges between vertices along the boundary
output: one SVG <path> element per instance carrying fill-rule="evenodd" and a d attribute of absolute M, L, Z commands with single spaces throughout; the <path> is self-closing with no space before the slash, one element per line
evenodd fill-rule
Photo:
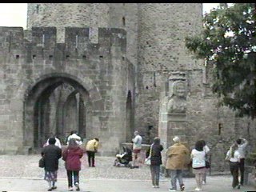
<path fill-rule="evenodd" d="M 203 150 L 204 143 L 202 140 L 195 143 L 194 150 L 191 151 L 190 158 L 192 159 L 193 174 L 197 187 L 195 191 L 202 190 L 202 179 L 206 174 L 206 152 Z"/>

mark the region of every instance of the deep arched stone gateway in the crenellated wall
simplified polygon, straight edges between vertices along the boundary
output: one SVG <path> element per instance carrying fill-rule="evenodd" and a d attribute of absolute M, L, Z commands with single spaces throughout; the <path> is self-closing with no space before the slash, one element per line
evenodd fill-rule
<path fill-rule="evenodd" d="M 86 128 L 91 127 L 89 92 L 65 74 L 35 83 L 27 90 L 24 104 L 24 146 L 40 148 L 51 134 L 64 142 L 71 130 L 86 138 Z"/>

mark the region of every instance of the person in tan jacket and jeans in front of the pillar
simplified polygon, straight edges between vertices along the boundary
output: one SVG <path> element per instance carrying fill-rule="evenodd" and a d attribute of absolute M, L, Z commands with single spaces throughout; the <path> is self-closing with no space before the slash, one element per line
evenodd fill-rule
<path fill-rule="evenodd" d="M 166 151 L 166 169 L 170 170 L 171 178 L 171 188 L 169 191 L 177 190 L 177 178 L 181 191 L 183 191 L 185 190 L 185 186 L 182 180 L 182 170 L 186 169 L 190 151 L 186 146 L 182 145 L 178 136 L 175 136 L 173 141 L 174 145 L 170 146 Z"/>

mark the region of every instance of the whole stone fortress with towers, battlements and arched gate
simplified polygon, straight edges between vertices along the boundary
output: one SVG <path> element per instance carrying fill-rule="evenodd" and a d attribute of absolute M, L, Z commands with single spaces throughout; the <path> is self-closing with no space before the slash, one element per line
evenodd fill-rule
<path fill-rule="evenodd" d="M 1 152 L 40 146 L 68 127 L 101 138 L 102 155 L 116 153 L 134 130 L 144 143 L 162 135 L 167 147 L 178 125 L 166 124 L 175 73 L 186 76 L 178 134 L 190 147 L 204 138 L 218 154 L 213 163 L 240 135 L 254 148 L 256 122 L 216 106 L 213 69 L 186 50 L 184 38 L 200 30 L 202 3 L 29 3 L 27 30 L 0 27 Z"/>

